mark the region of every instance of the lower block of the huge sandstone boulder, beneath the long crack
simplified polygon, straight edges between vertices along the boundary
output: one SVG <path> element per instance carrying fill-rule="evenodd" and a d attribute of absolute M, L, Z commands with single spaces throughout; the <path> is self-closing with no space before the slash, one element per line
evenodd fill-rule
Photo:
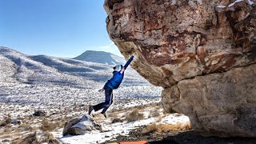
<path fill-rule="evenodd" d="M 189 116 L 195 130 L 256 137 L 256 65 L 182 80 L 163 90 L 162 103 Z"/>

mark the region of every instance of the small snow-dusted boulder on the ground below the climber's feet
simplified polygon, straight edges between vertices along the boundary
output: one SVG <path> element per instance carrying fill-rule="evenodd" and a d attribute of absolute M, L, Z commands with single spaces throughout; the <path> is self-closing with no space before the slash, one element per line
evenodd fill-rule
<path fill-rule="evenodd" d="M 91 130 L 102 130 L 102 126 L 99 125 L 93 117 L 85 114 L 82 118 L 72 118 L 70 121 L 66 122 L 62 135 L 83 135 Z"/>

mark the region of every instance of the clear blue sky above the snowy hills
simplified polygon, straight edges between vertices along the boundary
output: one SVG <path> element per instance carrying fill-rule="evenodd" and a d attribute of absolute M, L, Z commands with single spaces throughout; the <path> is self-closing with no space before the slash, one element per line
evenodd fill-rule
<path fill-rule="evenodd" d="M 0 0 L 0 46 L 74 58 L 86 50 L 121 55 L 106 32 L 104 0 Z"/>

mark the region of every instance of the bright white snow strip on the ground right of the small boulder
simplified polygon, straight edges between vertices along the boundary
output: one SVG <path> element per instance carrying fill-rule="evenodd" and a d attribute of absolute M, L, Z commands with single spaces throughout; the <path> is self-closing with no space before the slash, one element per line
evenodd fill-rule
<path fill-rule="evenodd" d="M 117 123 L 102 123 L 103 132 L 98 130 L 89 131 L 84 135 L 71 136 L 67 135 L 62 137 L 62 129 L 58 132 L 54 132 L 55 138 L 58 138 L 63 143 L 70 144 L 83 144 L 83 143 L 102 143 L 110 140 L 114 140 L 119 135 L 128 135 L 130 130 L 138 127 L 146 126 L 151 123 L 154 124 L 170 124 L 177 125 L 178 123 L 186 124 L 190 123 L 190 119 L 183 114 L 169 114 L 162 118 L 162 121 L 158 122 L 158 118 L 145 117 L 143 120 L 136 122 L 117 122 Z"/>

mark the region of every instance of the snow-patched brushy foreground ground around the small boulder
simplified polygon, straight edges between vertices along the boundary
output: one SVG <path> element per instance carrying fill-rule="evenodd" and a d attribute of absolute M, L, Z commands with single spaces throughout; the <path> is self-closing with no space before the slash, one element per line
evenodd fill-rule
<path fill-rule="evenodd" d="M 122 102 L 120 102 L 122 103 Z M 123 102 L 127 103 L 127 102 Z M 1 114 L 8 114 L 9 117 L 1 118 L 0 122 L 0 143 L 20 143 L 28 142 L 26 137 L 37 133 L 38 142 L 50 142 L 50 138 L 63 143 L 82 143 L 90 135 L 102 137 L 102 141 L 94 139 L 88 143 L 95 142 L 119 142 L 137 135 L 138 130 L 143 130 L 144 135 L 141 138 L 146 140 L 150 137 L 161 140 L 161 136 L 166 131 L 190 129 L 190 123 L 185 121 L 182 114 L 165 114 L 160 103 L 148 103 L 140 106 L 130 106 L 118 108 L 111 107 L 108 111 L 108 118 L 102 114 L 94 113 L 94 119 L 102 125 L 102 132 L 92 131 L 89 134 L 77 136 L 62 136 L 62 130 L 67 121 L 71 118 L 87 114 L 87 106 L 18 106 L 1 104 Z M 18 114 L 14 114 L 14 111 Z M 11 114 L 16 115 L 11 116 Z M 178 119 L 179 118 L 179 119 Z M 174 124 L 166 125 L 170 122 L 168 119 L 174 119 Z M 185 125 L 182 124 L 185 123 Z M 155 125 L 158 123 L 158 125 Z M 161 127 L 162 130 L 158 130 Z M 139 128 L 137 130 L 137 128 Z M 158 134 L 151 134 L 151 131 L 158 131 Z M 151 136 L 150 136 L 151 135 Z M 146 137 L 148 136 L 148 138 Z M 126 138 L 127 137 L 127 138 Z M 90 138 L 90 137 L 89 137 Z M 134 137 L 136 138 L 136 137 Z M 31 138 L 30 138 L 31 139 Z M 33 139 L 33 138 L 32 138 Z M 154 140 L 154 139 L 151 139 Z M 86 142 L 87 143 L 87 142 Z"/>

